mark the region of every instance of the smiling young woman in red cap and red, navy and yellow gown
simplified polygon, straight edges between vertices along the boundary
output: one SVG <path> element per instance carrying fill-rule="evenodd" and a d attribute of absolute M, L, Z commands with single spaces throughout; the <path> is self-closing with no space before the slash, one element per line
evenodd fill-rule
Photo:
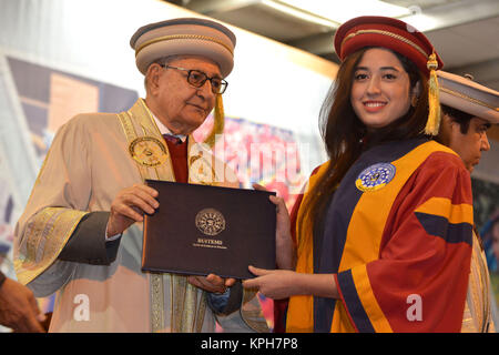
<path fill-rule="evenodd" d="M 422 33 L 383 17 L 344 23 L 335 49 L 343 62 L 322 110 L 329 161 L 292 214 L 296 268 L 291 257 L 279 264 L 289 270 L 251 266 L 244 285 L 289 297 L 288 332 L 459 332 L 471 185 L 431 140 L 442 63 Z"/>

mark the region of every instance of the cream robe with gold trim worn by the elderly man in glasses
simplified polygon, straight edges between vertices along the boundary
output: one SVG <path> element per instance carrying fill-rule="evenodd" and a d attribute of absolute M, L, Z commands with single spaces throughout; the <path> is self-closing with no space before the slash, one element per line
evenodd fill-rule
<path fill-rule="evenodd" d="M 192 136 L 187 164 L 191 183 L 238 186 Z M 55 135 L 14 239 L 18 280 L 38 297 L 57 292 L 50 332 L 214 332 L 215 318 L 225 332 L 266 331 L 254 294 L 244 293 L 240 310 L 215 314 L 206 292 L 185 276 L 143 273 L 143 223 L 104 241 L 118 192 L 144 179 L 175 181 L 167 145 L 142 99 L 120 114 L 77 115 Z"/>

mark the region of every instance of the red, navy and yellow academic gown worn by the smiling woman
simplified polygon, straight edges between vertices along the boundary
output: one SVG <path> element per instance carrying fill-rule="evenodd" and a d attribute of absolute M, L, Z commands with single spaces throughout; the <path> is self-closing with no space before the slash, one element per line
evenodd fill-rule
<path fill-rule="evenodd" d="M 310 176 L 310 185 L 326 164 Z M 306 200 L 307 194 L 298 217 Z M 287 332 L 461 329 L 472 196 L 469 173 L 456 153 L 427 140 L 366 151 L 323 221 L 314 235 L 309 225 L 297 225 L 296 271 L 335 274 L 340 297 L 291 297 Z"/>

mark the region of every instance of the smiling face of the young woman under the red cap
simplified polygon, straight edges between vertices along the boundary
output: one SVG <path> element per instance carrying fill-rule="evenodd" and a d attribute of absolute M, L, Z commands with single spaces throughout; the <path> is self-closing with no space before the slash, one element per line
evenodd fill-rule
<path fill-rule="evenodd" d="M 400 60 L 389 50 L 368 49 L 356 67 L 350 102 L 369 129 L 388 125 L 410 108 L 409 74 Z"/>

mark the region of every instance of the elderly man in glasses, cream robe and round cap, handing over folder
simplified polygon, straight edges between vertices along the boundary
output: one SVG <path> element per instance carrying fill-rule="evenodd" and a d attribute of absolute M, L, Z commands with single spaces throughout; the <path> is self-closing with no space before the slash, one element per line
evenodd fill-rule
<path fill-rule="evenodd" d="M 18 278 L 37 296 L 58 292 L 51 332 L 214 332 L 215 320 L 225 332 L 266 329 L 235 280 L 141 271 L 143 215 L 159 206 L 145 179 L 237 186 L 191 135 L 214 108 L 208 144 L 223 128 L 235 41 L 204 19 L 140 28 L 131 47 L 145 100 L 77 115 L 58 132 L 14 246 Z"/>

